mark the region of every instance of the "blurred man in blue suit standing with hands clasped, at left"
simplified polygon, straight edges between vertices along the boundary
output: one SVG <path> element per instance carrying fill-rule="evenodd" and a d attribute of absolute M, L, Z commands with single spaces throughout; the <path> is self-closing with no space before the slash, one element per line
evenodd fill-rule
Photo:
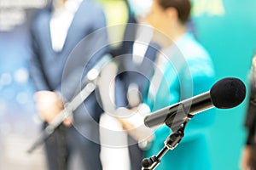
<path fill-rule="evenodd" d="M 32 21 L 30 71 L 44 127 L 73 98 L 82 77 L 102 58 L 107 32 L 102 8 L 90 0 L 54 0 Z M 96 93 L 67 117 L 45 142 L 49 170 L 102 169 Z"/>

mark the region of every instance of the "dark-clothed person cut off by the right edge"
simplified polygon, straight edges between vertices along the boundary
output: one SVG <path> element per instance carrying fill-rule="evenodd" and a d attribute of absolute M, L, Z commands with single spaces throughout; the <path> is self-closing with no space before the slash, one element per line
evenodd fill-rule
<path fill-rule="evenodd" d="M 256 169 L 256 54 L 253 55 L 249 85 L 249 99 L 244 124 L 247 129 L 247 140 L 241 154 L 241 170 Z"/>

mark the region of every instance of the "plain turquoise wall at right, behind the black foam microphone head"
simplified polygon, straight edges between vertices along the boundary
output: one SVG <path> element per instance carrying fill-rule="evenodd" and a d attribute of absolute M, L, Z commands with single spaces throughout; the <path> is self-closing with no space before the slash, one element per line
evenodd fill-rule
<path fill-rule="evenodd" d="M 256 49 L 256 1 L 222 2 L 223 15 L 211 15 L 206 11 L 193 17 L 197 37 L 212 56 L 216 81 L 224 77 L 240 78 L 248 92 L 247 75 Z M 211 127 L 212 169 L 239 169 L 246 139 L 243 127 L 246 109 L 247 98 L 234 109 L 217 110 Z"/>

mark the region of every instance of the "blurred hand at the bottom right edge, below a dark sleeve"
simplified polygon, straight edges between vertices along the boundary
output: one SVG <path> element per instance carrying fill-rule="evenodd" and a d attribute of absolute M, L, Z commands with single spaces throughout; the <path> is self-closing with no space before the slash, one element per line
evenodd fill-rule
<path fill-rule="evenodd" d="M 254 168 L 251 167 L 251 160 L 252 160 L 252 146 L 246 145 L 242 150 L 241 162 L 240 162 L 241 170 L 254 170 Z"/>

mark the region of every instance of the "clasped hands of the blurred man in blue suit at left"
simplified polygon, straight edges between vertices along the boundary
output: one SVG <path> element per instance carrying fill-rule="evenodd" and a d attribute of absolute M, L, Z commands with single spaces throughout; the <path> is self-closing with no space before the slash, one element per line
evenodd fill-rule
<path fill-rule="evenodd" d="M 63 102 L 59 94 L 51 91 L 38 91 L 34 94 L 36 108 L 45 122 L 52 122 L 55 116 L 63 110 Z M 72 124 L 72 118 L 66 118 L 63 123 L 66 126 Z"/>

